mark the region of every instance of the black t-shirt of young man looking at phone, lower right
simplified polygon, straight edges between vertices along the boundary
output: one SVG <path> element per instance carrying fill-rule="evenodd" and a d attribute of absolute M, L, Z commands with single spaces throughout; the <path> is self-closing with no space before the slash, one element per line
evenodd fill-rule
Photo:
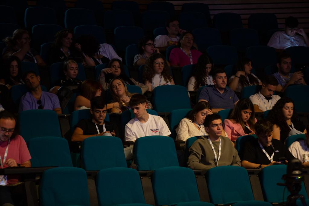
<path fill-rule="evenodd" d="M 275 149 L 273 161 L 277 162 L 279 161 L 279 158 L 286 158 L 287 161 L 290 161 L 294 158 L 294 156 L 281 141 L 273 139 L 271 142 Z M 272 146 L 264 146 L 264 149 L 268 153 L 269 157 L 271 157 L 274 152 Z M 243 151 L 242 160 L 247 160 L 248 162 L 262 165 L 268 165 L 270 163 L 270 160 L 261 149 L 257 139 L 253 139 L 247 142 Z"/>

